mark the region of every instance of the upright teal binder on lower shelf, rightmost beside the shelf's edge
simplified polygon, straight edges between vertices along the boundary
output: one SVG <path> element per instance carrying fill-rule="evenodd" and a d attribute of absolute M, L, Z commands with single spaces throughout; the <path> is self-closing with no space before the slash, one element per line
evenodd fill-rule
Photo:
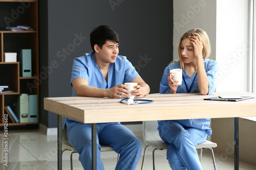
<path fill-rule="evenodd" d="M 29 95 L 29 122 L 37 122 L 37 94 Z"/>

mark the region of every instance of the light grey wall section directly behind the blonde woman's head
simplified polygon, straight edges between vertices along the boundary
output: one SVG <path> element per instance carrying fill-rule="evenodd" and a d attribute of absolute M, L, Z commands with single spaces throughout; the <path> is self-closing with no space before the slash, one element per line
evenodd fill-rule
<path fill-rule="evenodd" d="M 180 37 L 188 30 L 200 28 L 210 39 L 209 59 L 216 60 L 216 3 L 211 0 L 174 1 L 174 59 L 179 59 Z"/>

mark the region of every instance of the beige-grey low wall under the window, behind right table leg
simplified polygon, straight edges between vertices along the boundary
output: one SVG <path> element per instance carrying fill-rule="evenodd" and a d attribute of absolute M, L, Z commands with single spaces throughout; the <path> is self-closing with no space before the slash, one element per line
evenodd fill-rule
<path fill-rule="evenodd" d="M 212 118 L 211 141 L 218 147 L 214 149 L 216 162 L 234 158 L 234 118 Z M 252 120 L 239 118 L 239 160 L 256 165 L 256 124 Z M 217 163 L 217 167 L 222 166 Z M 241 166 L 240 166 L 241 167 Z"/>

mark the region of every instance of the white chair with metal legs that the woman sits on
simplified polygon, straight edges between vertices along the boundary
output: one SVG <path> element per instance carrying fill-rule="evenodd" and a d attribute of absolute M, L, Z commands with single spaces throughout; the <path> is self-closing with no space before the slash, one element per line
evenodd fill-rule
<path fill-rule="evenodd" d="M 145 161 L 145 155 L 146 155 L 146 149 L 148 147 L 154 147 L 153 150 L 153 170 L 155 170 L 155 151 L 156 150 L 166 150 L 169 147 L 168 143 L 165 143 L 159 136 L 159 133 L 157 131 L 158 123 L 157 121 L 144 121 L 142 126 L 142 132 L 143 132 L 143 140 L 146 144 L 146 147 L 144 149 L 144 155 L 142 159 L 141 164 L 141 170 L 143 169 L 144 161 Z M 212 154 L 212 161 L 214 162 L 214 168 L 216 170 L 216 164 L 215 164 L 215 158 L 214 158 L 214 151 L 212 148 L 217 147 L 217 143 L 205 140 L 204 142 L 198 144 L 196 146 L 196 149 L 200 149 L 200 156 L 199 160 L 201 162 L 202 160 L 202 149 L 209 149 Z"/>

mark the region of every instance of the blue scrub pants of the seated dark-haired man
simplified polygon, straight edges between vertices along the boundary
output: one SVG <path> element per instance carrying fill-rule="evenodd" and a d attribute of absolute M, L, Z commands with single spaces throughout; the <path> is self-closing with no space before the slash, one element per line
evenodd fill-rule
<path fill-rule="evenodd" d="M 69 143 L 79 153 L 79 161 L 86 170 L 92 169 L 92 129 L 91 124 L 68 120 L 67 133 Z M 120 154 L 117 170 L 135 169 L 141 155 L 141 141 L 119 123 L 97 124 L 97 169 L 104 169 L 100 159 L 101 146 L 109 145 Z"/>

